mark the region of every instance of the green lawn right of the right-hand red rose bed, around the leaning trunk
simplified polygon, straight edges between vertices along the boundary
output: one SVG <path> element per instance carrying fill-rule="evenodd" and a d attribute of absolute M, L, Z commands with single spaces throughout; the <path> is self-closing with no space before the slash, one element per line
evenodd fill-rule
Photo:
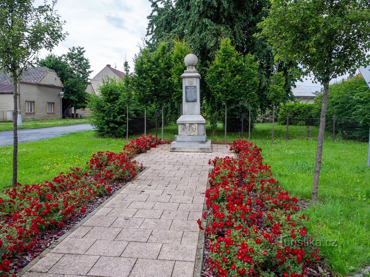
<path fill-rule="evenodd" d="M 254 140 L 265 163 L 290 195 L 310 199 L 315 140 Z M 329 266 L 345 276 L 370 264 L 370 169 L 367 143 L 326 140 L 319 181 L 320 203 L 304 213 L 309 232 Z M 334 243 L 334 246 L 331 244 Z M 321 246 L 320 246 L 321 244 Z"/>

